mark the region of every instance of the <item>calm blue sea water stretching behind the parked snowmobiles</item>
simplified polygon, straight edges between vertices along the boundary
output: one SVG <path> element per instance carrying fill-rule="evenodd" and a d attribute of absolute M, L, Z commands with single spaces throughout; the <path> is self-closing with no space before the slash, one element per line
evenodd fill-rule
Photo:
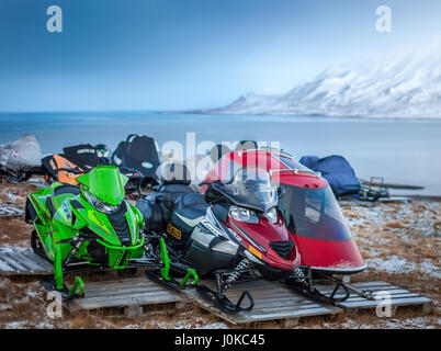
<path fill-rule="evenodd" d="M 186 132 L 195 133 L 196 144 L 273 140 L 297 157 L 342 155 L 358 177 L 385 177 L 387 182 L 426 186 L 418 194 L 441 195 L 441 121 L 152 112 L 0 114 L 0 144 L 32 133 L 47 154 L 80 143 L 113 149 L 132 133 L 152 136 L 159 147 L 168 140 L 185 146 Z"/>

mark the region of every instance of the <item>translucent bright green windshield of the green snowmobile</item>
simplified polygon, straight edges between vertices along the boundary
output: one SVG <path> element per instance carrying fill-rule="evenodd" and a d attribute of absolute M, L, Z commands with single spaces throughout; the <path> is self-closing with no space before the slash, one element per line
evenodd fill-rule
<path fill-rule="evenodd" d="M 98 166 L 90 172 L 77 178 L 88 192 L 98 199 L 116 206 L 124 197 L 124 185 L 128 178 L 121 174 L 115 166 Z"/>

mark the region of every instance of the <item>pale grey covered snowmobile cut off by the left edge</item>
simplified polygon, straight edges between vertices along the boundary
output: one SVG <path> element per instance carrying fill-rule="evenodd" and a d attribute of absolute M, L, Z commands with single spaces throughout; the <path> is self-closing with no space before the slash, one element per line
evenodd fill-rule
<path fill-rule="evenodd" d="M 12 181 L 27 180 L 32 174 L 42 174 L 42 157 L 36 136 L 25 134 L 14 143 L 0 145 L 0 171 Z"/>

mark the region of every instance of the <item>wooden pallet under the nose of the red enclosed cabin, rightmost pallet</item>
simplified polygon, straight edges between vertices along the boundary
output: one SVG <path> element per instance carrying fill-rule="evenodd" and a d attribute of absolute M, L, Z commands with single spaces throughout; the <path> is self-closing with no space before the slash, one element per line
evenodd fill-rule
<path fill-rule="evenodd" d="M 421 306 L 423 313 L 430 313 L 432 309 L 432 301 L 430 298 L 385 282 L 353 283 L 351 285 L 361 291 L 366 290 L 373 292 L 373 296 L 377 296 L 378 299 L 371 301 L 357 294 L 351 294 L 346 302 L 340 303 L 340 307 L 344 308 L 348 313 L 357 313 L 359 309 L 376 308 L 378 303 L 384 301 L 380 298 L 381 295 L 378 295 L 378 293 L 381 292 L 391 294 L 393 315 L 396 313 L 398 307 L 405 306 Z M 327 293 L 331 291 L 331 287 L 328 286 L 318 286 L 318 288 Z"/>

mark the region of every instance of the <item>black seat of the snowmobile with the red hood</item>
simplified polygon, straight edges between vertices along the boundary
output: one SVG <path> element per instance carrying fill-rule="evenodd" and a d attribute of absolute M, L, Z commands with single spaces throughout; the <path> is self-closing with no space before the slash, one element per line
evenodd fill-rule
<path fill-rule="evenodd" d="M 208 204 L 202 194 L 185 194 L 174 204 L 171 224 L 182 231 L 182 239 L 191 236 L 194 227 L 204 218 Z"/>

